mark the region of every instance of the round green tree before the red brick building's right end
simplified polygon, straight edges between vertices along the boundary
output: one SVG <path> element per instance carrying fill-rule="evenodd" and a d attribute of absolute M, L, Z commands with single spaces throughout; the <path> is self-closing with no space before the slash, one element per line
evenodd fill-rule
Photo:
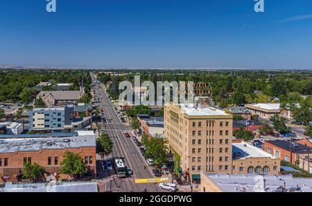
<path fill-rule="evenodd" d="M 67 152 L 63 157 L 61 173 L 71 175 L 71 178 L 80 177 L 80 175 L 87 173 L 83 158 L 78 153 Z"/>

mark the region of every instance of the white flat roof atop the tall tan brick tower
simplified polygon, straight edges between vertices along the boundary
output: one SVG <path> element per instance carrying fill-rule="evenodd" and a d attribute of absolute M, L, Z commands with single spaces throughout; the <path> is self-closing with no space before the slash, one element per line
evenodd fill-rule
<path fill-rule="evenodd" d="M 180 106 L 189 116 L 231 116 L 230 114 L 225 113 L 225 111 L 216 108 L 196 108 L 193 104 L 180 104 Z"/>

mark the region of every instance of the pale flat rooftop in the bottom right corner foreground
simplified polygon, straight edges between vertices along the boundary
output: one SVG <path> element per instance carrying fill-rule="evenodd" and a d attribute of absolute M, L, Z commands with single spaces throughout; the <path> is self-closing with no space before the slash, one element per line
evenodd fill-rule
<path fill-rule="evenodd" d="M 206 174 L 223 192 L 254 192 L 259 184 L 257 175 Z M 312 192 L 312 178 L 293 178 L 293 175 L 263 175 L 266 180 L 266 192 Z M 285 183 L 284 183 L 285 182 Z M 285 189 L 284 185 L 286 186 Z"/>

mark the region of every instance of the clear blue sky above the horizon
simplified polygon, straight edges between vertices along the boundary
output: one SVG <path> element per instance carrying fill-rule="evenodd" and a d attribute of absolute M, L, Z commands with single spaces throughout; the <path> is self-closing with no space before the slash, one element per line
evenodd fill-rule
<path fill-rule="evenodd" d="M 0 1 L 0 65 L 312 69 L 312 1 Z"/>

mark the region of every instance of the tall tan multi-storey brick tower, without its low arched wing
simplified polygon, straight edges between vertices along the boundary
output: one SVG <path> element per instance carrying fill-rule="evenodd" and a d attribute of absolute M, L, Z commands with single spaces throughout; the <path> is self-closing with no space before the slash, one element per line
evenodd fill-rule
<path fill-rule="evenodd" d="M 164 137 L 192 180 L 200 178 L 200 171 L 231 172 L 232 115 L 223 110 L 200 103 L 166 105 Z"/>

